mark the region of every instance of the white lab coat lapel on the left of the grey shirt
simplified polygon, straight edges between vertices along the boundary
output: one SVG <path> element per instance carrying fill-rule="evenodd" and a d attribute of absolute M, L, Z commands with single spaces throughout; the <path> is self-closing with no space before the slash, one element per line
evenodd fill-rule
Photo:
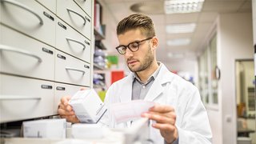
<path fill-rule="evenodd" d="M 127 80 L 122 84 L 122 96 L 120 96 L 121 102 L 130 102 L 133 86 L 133 74 L 130 73 L 127 76 Z"/>

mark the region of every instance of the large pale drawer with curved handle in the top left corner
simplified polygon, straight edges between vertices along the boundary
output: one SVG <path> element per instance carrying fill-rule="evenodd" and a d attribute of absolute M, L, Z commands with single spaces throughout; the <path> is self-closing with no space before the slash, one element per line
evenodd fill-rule
<path fill-rule="evenodd" d="M 55 46 L 56 17 L 38 2 L 1 0 L 0 10 L 4 25 Z"/>

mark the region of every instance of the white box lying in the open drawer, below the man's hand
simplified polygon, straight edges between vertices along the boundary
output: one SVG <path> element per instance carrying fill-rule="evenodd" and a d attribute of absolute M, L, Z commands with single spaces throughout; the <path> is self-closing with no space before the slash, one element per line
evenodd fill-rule
<path fill-rule="evenodd" d="M 66 138 L 66 119 L 42 119 L 23 122 L 25 138 Z"/>

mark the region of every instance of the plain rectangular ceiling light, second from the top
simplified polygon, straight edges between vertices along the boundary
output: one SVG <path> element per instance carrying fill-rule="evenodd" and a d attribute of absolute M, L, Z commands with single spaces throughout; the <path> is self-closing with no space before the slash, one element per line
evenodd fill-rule
<path fill-rule="evenodd" d="M 195 23 L 171 24 L 166 26 L 166 32 L 170 34 L 192 33 L 195 26 Z"/>

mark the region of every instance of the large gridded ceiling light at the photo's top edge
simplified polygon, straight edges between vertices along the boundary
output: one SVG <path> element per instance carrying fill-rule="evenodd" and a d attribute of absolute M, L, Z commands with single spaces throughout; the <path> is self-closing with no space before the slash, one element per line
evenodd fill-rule
<path fill-rule="evenodd" d="M 166 14 L 194 13 L 202 10 L 204 0 L 166 0 Z"/>

